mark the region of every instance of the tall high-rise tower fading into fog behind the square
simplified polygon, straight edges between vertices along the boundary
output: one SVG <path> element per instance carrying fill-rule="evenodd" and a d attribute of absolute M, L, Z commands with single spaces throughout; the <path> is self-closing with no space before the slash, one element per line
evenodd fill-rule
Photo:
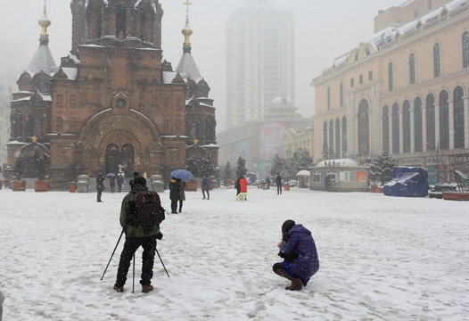
<path fill-rule="evenodd" d="M 292 12 L 248 0 L 226 24 L 226 127 L 262 119 L 276 97 L 294 104 Z"/>

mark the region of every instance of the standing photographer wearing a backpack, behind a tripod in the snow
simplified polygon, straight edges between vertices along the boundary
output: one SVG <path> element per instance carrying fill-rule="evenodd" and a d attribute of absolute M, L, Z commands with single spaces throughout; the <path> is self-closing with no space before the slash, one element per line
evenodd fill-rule
<path fill-rule="evenodd" d="M 141 201 L 142 198 L 143 201 Z M 146 205 L 149 206 L 145 207 Z M 150 218 L 153 214 L 156 217 Z M 158 193 L 148 191 L 144 177 L 135 177 L 132 190 L 122 200 L 120 210 L 120 225 L 122 226 L 122 233 L 126 234 L 126 242 L 120 254 L 119 269 L 116 284 L 114 284 L 114 290 L 117 292 L 124 291 L 130 261 L 134 258 L 135 263 L 135 252 L 140 246 L 144 249 L 140 280 L 142 292 L 146 293 L 153 290 L 152 276 L 154 256 L 157 252 L 156 240 L 163 237 L 160 233 L 160 222 L 163 219 L 164 209 L 160 206 L 160 196 Z"/>

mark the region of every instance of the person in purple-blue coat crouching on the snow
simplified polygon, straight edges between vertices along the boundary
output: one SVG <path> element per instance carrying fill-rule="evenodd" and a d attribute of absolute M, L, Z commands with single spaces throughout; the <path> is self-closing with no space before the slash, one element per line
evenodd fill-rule
<path fill-rule="evenodd" d="M 278 256 L 283 258 L 284 262 L 274 264 L 274 272 L 292 281 L 285 290 L 301 290 L 319 269 L 316 243 L 311 232 L 288 219 L 282 226 L 282 242 L 277 246 L 280 250 Z"/>

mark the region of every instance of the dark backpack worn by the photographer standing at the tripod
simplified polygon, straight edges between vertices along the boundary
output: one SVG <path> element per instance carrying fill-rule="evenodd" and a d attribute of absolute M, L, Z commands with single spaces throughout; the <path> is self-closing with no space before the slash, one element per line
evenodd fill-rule
<path fill-rule="evenodd" d="M 165 219 L 165 210 L 161 207 L 160 195 L 152 191 L 136 193 L 136 226 L 142 226 L 144 233 L 159 227 Z"/>

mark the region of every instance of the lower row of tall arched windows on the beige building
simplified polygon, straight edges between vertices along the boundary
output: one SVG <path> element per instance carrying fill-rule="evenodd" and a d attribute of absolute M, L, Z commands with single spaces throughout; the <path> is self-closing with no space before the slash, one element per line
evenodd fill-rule
<path fill-rule="evenodd" d="M 465 148 L 467 115 L 464 108 L 464 89 L 461 86 L 454 89 L 452 101 L 449 99 L 448 91 L 442 90 L 438 97 L 429 94 L 424 98 L 416 96 L 413 102 L 407 99 L 402 103 L 402 108 L 399 103 L 384 105 L 383 152 L 405 153 L 434 151 L 437 148 L 441 150 Z M 451 135 L 450 119 L 454 130 L 454 134 Z M 364 99 L 358 105 L 359 155 L 369 155 L 369 127 L 369 104 Z M 342 119 L 324 122 L 323 145 L 335 156 L 346 155 L 347 118 L 345 116 Z"/>

